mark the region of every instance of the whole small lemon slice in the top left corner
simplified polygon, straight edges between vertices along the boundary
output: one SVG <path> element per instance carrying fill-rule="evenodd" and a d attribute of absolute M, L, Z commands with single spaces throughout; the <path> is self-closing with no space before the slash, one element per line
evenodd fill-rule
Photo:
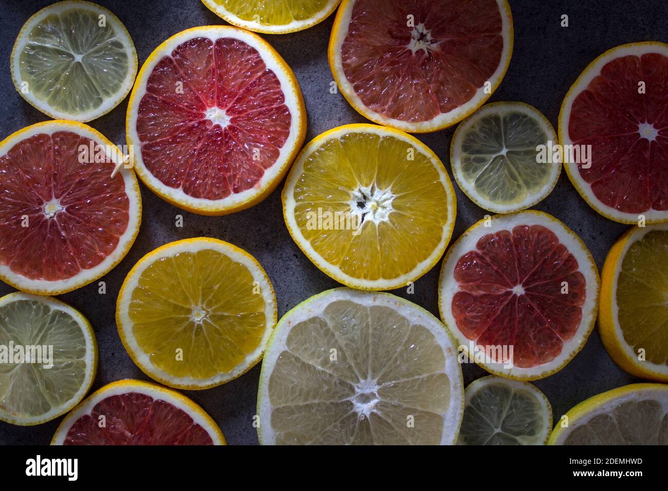
<path fill-rule="evenodd" d="M 51 118 L 100 118 L 125 99 L 135 75 L 130 34 L 96 3 L 63 1 L 41 9 L 23 25 L 11 51 L 16 90 Z"/>

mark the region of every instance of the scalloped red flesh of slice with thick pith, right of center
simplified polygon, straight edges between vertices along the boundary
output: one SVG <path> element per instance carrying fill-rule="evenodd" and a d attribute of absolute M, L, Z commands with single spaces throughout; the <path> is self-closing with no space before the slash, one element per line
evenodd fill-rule
<path fill-rule="evenodd" d="M 477 345 L 512 345 L 516 367 L 552 361 L 580 327 L 585 277 L 572 253 L 545 226 L 485 234 L 476 249 L 458 259 L 454 281 L 457 329 Z M 497 363 L 510 361 L 503 356 L 492 353 Z"/>

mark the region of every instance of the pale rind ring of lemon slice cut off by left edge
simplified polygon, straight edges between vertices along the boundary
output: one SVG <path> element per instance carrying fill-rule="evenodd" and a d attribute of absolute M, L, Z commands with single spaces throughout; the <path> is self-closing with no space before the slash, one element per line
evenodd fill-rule
<path fill-rule="evenodd" d="M 19 425 L 41 424 L 43 422 L 53 420 L 61 414 L 71 410 L 72 407 L 77 405 L 81 399 L 83 399 L 83 397 L 86 395 L 86 392 L 88 392 L 88 389 L 90 389 L 90 385 L 93 383 L 93 376 L 96 371 L 96 365 L 98 363 L 98 359 L 96 357 L 96 340 L 94 338 L 95 334 L 93 333 L 88 320 L 83 317 L 79 311 L 53 297 L 31 295 L 30 293 L 17 291 L 14 293 L 9 293 L 9 295 L 5 295 L 4 297 L 0 298 L 0 307 L 21 300 L 37 301 L 48 305 L 53 310 L 63 311 L 79 325 L 79 328 L 81 328 L 81 333 L 83 333 L 83 337 L 86 339 L 86 355 L 84 357 L 84 360 L 86 361 L 86 375 L 83 377 L 83 381 L 81 381 L 81 387 L 79 387 L 79 390 L 71 397 L 71 399 L 69 399 L 69 401 L 67 401 L 67 403 L 60 406 L 51 407 L 51 410 L 39 416 L 17 416 L 16 414 L 6 412 L 2 409 L 2 407 L 0 407 L 0 420 Z"/>

